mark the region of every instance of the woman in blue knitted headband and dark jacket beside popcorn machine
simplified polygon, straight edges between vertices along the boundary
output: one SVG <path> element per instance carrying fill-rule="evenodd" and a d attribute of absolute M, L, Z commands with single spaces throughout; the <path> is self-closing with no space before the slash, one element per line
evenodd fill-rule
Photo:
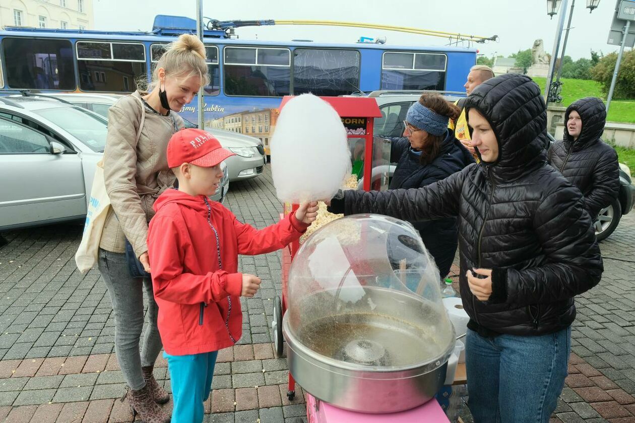
<path fill-rule="evenodd" d="M 430 93 L 422 94 L 410 107 L 404 122 L 404 138 L 391 139 L 391 161 L 398 161 L 389 186 L 391 190 L 421 188 L 474 163 L 472 155 L 448 129 L 448 120 L 457 119 L 460 112 L 439 94 Z M 411 223 L 434 257 L 439 277 L 445 278 L 457 252 L 457 219 Z"/>

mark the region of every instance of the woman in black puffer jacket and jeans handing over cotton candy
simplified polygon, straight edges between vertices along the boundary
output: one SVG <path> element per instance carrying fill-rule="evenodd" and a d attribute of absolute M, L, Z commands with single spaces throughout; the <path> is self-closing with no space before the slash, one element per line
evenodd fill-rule
<path fill-rule="evenodd" d="M 537 84 L 500 75 L 465 108 L 479 164 L 424 188 L 340 192 L 330 211 L 458 217 L 474 421 L 546 423 L 567 374 L 573 297 L 599 282 L 602 259 L 582 194 L 545 161 Z"/>

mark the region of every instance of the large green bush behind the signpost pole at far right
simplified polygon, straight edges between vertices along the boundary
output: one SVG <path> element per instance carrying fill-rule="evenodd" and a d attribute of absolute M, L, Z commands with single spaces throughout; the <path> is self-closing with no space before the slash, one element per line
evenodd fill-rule
<path fill-rule="evenodd" d="M 602 86 L 602 91 L 608 94 L 617 62 L 617 53 L 610 53 L 603 56 L 597 65 L 591 68 L 591 76 L 594 81 L 598 81 Z M 615 92 L 613 98 L 632 99 L 635 98 L 635 50 L 624 51 L 622 63 L 617 81 L 615 82 Z"/>

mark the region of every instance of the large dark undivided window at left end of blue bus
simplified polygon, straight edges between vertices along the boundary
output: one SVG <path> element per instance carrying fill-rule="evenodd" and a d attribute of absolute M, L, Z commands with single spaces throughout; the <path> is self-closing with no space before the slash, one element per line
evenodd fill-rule
<path fill-rule="evenodd" d="M 75 89 L 70 41 L 5 38 L 2 45 L 10 88 Z"/>

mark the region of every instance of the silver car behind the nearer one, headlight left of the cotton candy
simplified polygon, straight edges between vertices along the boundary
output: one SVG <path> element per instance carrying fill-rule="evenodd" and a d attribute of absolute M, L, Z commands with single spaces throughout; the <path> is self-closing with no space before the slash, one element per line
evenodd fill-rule
<path fill-rule="evenodd" d="M 108 118 L 108 108 L 113 105 L 121 94 L 50 94 L 56 98 L 69 101 L 76 106 L 88 108 Z M 185 120 L 186 127 L 197 127 L 196 124 Z M 236 153 L 235 156 L 225 160 L 229 172 L 229 181 L 251 179 L 262 174 L 267 163 L 265 149 L 262 141 L 253 136 L 225 131 L 224 129 L 206 129 L 213 134 L 220 145 Z"/>

